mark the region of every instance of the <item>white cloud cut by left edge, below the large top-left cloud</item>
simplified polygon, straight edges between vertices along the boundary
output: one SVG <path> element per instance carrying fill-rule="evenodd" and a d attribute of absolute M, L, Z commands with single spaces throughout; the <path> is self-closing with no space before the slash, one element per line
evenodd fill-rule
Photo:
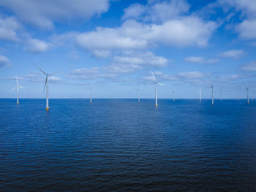
<path fill-rule="evenodd" d="M 17 30 L 20 28 L 15 18 L 0 18 L 0 39 L 17 42 Z"/>

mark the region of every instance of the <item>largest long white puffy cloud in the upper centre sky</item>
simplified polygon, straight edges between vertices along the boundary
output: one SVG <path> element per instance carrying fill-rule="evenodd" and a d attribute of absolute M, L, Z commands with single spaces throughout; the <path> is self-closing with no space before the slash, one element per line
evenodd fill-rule
<path fill-rule="evenodd" d="M 119 28 L 97 28 L 78 34 L 77 43 L 86 50 L 138 50 L 154 45 L 203 47 L 216 27 L 216 23 L 196 17 L 169 20 L 159 25 L 127 20 Z"/>

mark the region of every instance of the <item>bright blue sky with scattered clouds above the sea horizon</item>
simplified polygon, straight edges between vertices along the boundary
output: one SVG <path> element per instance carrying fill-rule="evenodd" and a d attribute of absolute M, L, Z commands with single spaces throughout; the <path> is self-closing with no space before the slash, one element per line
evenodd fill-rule
<path fill-rule="evenodd" d="M 1 0 L 0 98 L 256 96 L 256 0 Z"/>

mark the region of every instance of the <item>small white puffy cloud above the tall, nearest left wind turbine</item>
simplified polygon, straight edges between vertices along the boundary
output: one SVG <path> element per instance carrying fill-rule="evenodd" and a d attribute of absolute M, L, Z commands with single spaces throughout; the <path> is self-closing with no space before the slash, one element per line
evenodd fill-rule
<path fill-rule="evenodd" d="M 48 49 L 48 43 L 39 39 L 28 39 L 24 50 L 28 50 L 31 53 L 41 53 Z"/>

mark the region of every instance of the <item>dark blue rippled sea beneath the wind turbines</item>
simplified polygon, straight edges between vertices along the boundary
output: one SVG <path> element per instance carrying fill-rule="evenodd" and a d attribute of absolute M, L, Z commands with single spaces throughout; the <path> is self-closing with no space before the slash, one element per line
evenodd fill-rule
<path fill-rule="evenodd" d="M 256 101 L 0 99 L 0 191 L 256 191 Z"/>

